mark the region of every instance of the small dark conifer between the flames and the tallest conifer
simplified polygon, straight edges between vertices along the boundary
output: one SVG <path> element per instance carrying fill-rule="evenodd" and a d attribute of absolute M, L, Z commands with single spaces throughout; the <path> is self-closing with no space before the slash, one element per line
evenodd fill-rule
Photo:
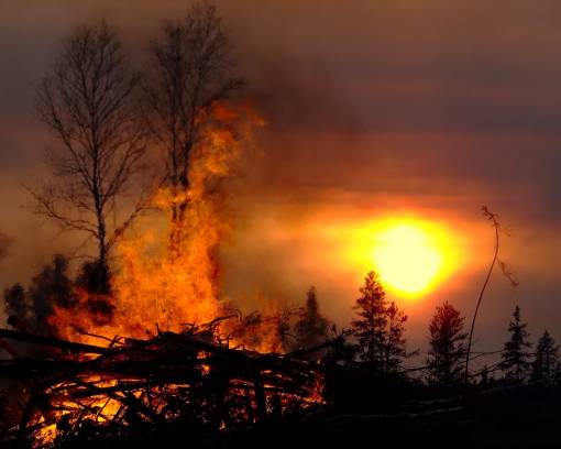
<path fill-rule="evenodd" d="M 297 348 L 314 348 L 327 339 L 329 321 L 320 314 L 316 288 L 310 287 L 300 319 L 295 325 Z"/>

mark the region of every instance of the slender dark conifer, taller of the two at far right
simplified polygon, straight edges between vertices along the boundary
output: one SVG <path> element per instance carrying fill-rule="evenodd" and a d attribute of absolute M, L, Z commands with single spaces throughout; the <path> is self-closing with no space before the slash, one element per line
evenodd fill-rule
<path fill-rule="evenodd" d="M 505 343 L 501 363 L 501 369 L 505 379 L 516 382 L 524 382 L 530 370 L 530 353 L 528 348 L 531 343 L 528 341 L 527 324 L 520 320 L 520 308 L 516 306 L 513 319 L 508 324 L 510 339 Z"/>

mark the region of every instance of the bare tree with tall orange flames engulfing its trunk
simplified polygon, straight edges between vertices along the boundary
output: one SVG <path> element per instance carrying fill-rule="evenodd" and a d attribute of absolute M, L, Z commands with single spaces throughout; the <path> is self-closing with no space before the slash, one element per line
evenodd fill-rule
<path fill-rule="evenodd" d="M 147 325 L 178 331 L 221 316 L 219 247 L 231 229 L 228 180 L 261 120 L 229 101 L 230 41 L 216 8 L 196 4 L 168 22 L 151 48 L 144 121 L 162 150 L 154 213 L 120 241 L 113 328 L 143 336 Z"/>

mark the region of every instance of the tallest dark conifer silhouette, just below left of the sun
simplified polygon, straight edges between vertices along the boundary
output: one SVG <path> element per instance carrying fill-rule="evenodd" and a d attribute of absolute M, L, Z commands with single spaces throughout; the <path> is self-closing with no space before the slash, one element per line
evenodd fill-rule
<path fill-rule="evenodd" d="M 376 273 L 366 275 L 360 292 L 354 306 L 358 318 L 351 324 L 359 357 L 378 372 L 395 373 L 407 357 L 403 337 L 407 316 L 387 302 Z"/>

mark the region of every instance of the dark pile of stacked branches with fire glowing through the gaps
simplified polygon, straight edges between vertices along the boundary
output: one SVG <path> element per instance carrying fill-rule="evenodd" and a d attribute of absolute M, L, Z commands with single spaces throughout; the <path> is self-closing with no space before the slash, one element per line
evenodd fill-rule
<path fill-rule="evenodd" d="M 48 348 L 48 357 L 0 361 L 0 379 L 33 385 L 19 442 L 43 447 L 84 429 L 100 436 L 172 423 L 234 429 L 320 397 L 315 363 L 232 349 L 213 328 L 116 338 L 107 347 L 0 329 L 0 339 Z"/>

